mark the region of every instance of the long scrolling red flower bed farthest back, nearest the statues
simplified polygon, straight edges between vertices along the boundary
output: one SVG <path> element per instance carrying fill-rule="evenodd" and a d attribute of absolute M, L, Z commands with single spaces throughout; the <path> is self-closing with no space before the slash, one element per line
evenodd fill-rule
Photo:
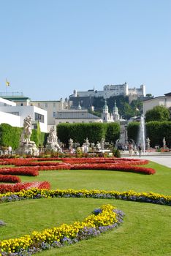
<path fill-rule="evenodd" d="M 39 162 L 58 160 L 62 162 Z M 33 162 L 34 161 L 34 162 Z M 37 162 L 35 162 L 37 161 Z M 18 174 L 25 176 L 37 176 L 38 170 L 122 170 L 134 173 L 153 174 L 155 170 L 147 167 L 139 167 L 135 165 L 146 165 L 148 160 L 142 159 L 126 159 L 126 158 L 28 158 L 28 159 L 3 159 L 1 163 L 16 165 L 21 167 L 0 168 L 0 174 Z M 25 167 L 23 167 L 25 166 Z"/>

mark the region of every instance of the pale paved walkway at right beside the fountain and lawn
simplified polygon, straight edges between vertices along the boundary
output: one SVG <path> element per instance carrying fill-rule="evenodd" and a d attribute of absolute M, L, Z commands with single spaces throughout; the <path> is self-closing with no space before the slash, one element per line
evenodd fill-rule
<path fill-rule="evenodd" d="M 156 162 L 159 165 L 164 165 L 167 167 L 171 168 L 171 154 L 148 154 L 148 155 L 142 155 L 142 157 L 138 157 L 138 156 L 134 156 L 132 155 L 132 157 L 128 156 L 122 156 L 122 157 L 126 157 L 126 158 L 136 158 L 136 159 L 147 159 L 150 160 L 152 162 Z"/>

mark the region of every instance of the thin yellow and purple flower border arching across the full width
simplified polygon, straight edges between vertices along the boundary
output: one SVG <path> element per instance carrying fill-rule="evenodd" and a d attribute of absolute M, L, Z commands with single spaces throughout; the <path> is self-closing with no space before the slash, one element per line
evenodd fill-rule
<path fill-rule="evenodd" d="M 87 190 L 87 189 L 28 189 L 21 190 L 20 192 L 7 192 L 0 195 L 0 203 L 7 203 L 16 200 L 25 199 L 37 199 L 37 198 L 47 198 L 47 197 L 86 197 L 86 198 L 104 198 L 104 199 L 118 199 L 118 200 L 128 200 L 137 201 L 142 203 L 155 203 L 164 206 L 171 206 L 171 196 L 170 195 L 160 195 L 153 192 L 134 192 L 129 190 L 126 192 L 118 192 L 114 190 Z"/>

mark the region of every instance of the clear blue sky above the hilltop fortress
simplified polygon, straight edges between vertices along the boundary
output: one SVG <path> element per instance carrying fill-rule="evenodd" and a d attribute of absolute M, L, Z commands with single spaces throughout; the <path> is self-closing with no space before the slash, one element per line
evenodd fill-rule
<path fill-rule="evenodd" d="M 58 100 L 127 82 L 163 95 L 170 28 L 170 0 L 0 1 L 0 91 Z"/>

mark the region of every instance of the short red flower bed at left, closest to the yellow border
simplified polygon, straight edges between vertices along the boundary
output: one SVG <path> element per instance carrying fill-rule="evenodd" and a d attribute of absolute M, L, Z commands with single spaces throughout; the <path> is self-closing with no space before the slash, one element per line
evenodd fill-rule
<path fill-rule="evenodd" d="M 47 181 L 27 182 L 18 184 L 0 184 L 0 194 L 7 192 L 19 192 L 22 189 L 31 189 L 37 187 L 38 189 L 50 189 L 50 183 Z"/>

